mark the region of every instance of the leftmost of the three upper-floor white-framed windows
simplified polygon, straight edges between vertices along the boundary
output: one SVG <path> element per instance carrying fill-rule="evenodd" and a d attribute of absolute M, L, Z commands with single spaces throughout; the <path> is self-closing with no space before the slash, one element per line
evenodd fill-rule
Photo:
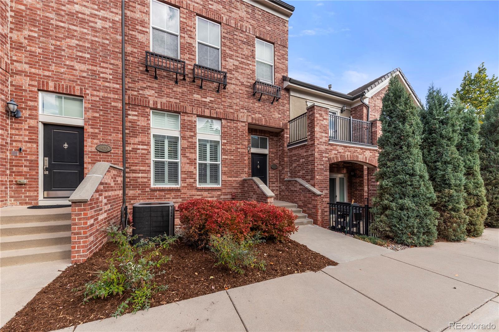
<path fill-rule="evenodd" d="M 180 11 L 151 0 L 151 51 L 180 59 Z"/>

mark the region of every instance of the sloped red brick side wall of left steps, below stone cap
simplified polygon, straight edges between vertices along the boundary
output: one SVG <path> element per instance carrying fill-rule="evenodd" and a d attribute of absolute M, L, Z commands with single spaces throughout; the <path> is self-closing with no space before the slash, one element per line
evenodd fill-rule
<path fill-rule="evenodd" d="M 109 167 L 86 203 L 71 204 L 71 263 L 86 261 L 107 241 L 105 228 L 120 222 L 123 171 Z"/>

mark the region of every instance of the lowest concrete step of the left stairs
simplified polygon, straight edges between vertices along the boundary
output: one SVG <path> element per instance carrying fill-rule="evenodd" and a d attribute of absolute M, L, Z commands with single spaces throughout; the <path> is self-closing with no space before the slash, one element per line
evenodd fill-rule
<path fill-rule="evenodd" d="M 7 250 L 0 251 L 0 266 L 50 262 L 68 258 L 71 258 L 71 244 Z"/>

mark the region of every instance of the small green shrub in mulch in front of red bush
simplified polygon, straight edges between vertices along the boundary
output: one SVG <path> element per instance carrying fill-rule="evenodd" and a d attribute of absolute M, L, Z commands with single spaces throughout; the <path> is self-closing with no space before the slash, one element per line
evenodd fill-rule
<path fill-rule="evenodd" d="M 225 265 L 231 271 L 243 274 L 245 267 L 265 270 L 265 262 L 256 257 L 258 252 L 254 249 L 254 245 L 262 242 L 264 241 L 258 236 L 240 241 L 236 240 L 232 234 L 225 234 L 223 236 L 212 235 L 209 246 L 217 258 L 215 266 Z"/>

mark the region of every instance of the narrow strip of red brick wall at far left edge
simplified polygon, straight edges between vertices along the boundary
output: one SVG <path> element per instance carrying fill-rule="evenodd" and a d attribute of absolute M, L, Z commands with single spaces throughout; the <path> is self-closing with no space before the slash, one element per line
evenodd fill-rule
<path fill-rule="evenodd" d="M 9 117 L 5 103 L 10 100 L 10 61 L 8 44 L 9 2 L 0 1 L 0 207 L 8 201 Z"/>

